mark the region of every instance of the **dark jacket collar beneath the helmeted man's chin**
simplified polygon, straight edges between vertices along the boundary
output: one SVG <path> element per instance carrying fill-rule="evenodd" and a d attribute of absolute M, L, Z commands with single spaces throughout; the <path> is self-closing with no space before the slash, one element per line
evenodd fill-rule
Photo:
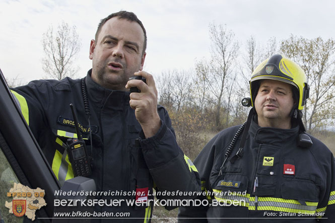
<path fill-rule="evenodd" d="M 260 127 L 253 118 L 250 124 L 249 134 L 250 137 L 253 137 L 258 143 L 281 146 L 297 140 L 299 125 L 291 129 Z"/>

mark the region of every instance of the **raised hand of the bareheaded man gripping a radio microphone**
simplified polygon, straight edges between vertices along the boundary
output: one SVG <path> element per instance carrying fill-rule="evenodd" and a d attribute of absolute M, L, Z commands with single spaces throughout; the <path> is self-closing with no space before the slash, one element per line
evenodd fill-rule
<path fill-rule="evenodd" d="M 125 88 L 139 90 L 131 92 L 130 107 L 135 109 L 136 119 L 145 136 L 155 135 L 161 127 L 161 119 L 157 113 L 157 89 L 153 76 L 143 70 L 136 72 L 135 76 L 129 78 Z"/>

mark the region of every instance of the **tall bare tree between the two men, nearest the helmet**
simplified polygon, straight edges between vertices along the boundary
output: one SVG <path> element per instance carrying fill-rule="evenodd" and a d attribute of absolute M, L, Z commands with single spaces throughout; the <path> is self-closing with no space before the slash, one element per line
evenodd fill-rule
<path fill-rule="evenodd" d="M 235 59 L 239 51 L 239 43 L 235 39 L 235 34 L 231 30 L 227 30 L 226 26 L 216 26 L 210 24 L 210 38 L 212 41 L 212 60 L 210 90 L 216 99 L 216 126 L 220 130 L 223 126 L 221 123 L 221 108 L 223 106 L 224 96 L 229 98 L 226 94 L 227 82 L 232 81 L 231 73 L 235 68 Z M 232 92 L 229 92 L 232 93 Z M 229 103 L 228 103 L 229 104 Z M 229 115 L 226 109 L 226 115 Z M 225 124 L 227 127 L 228 123 Z"/>

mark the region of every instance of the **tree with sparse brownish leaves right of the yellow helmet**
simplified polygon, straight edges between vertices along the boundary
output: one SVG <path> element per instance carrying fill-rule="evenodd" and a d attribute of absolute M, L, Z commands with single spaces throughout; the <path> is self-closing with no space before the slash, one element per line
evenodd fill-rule
<path fill-rule="evenodd" d="M 305 106 L 304 124 L 308 132 L 331 124 L 335 117 L 335 41 L 321 37 L 306 39 L 291 35 L 281 50 L 306 73 L 310 98 Z"/>

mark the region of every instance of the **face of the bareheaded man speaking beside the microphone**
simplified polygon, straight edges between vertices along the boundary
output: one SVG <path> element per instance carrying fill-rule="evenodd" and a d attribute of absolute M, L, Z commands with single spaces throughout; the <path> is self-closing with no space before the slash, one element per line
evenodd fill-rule
<path fill-rule="evenodd" d="M 91 40 L 92 79 L 107 89 L 125 90 L 129 77 L 143 69 L 144 32 L 137 22 L 113 17 Z"/>

